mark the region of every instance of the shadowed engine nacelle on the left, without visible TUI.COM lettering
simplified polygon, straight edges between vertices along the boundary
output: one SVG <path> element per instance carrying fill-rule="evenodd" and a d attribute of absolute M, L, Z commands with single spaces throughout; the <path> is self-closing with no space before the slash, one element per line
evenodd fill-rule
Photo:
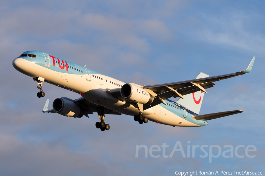
<path fill-rule="evenodd" d="M 55 112 L 67 117 L 82 117 L 84 111 L 68 98 L 57 98 L 53 101 L 52 107 Z"/>

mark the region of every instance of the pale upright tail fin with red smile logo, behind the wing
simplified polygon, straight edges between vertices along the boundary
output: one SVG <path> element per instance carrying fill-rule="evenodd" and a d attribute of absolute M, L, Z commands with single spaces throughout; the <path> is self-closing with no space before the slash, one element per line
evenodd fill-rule
<path fill-rule="evenodd" d="M 200 78 L 206 78 L 209 77 L 209 75 L 206 75 L 205 73 L 200 73 L 196 79 L 200 79 Z M 200 113 L 200 109 L 201 109 L 201 103 L 203 100 L 203 95 L 204 92 L 203 91 L 198 91 L 198 92 L 194 92 L 192 94 L 187 94 L 184 95 L 183 97 L 185 99 L 179 99 L 177 101 L 178 104 L 181 104 L 182 106 L 184 106 L 185 108 L 190 109 L 191 111 L 195 112 L 196 114 Z"/>

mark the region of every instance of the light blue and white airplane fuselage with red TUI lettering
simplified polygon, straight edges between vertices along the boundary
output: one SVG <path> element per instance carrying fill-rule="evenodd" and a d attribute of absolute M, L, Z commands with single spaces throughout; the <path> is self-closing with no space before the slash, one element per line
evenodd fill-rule
<path fill-rule="evenodd" d="M 112 97 L 107 92 L 108 89 L 121 88 L 126 84 L 125 82 L 47 53 L 28 51 L 23 54 L 27 53 L 36 55 L 36 57 L 17 57 L 13 60 L 12 64 L 19 72 L 33 78 L 42 77 L 44 82 L 76 92 L 98 106 L 130 116 L 139 114 L 139 109 L 135 104 Z M 180 104 L 168 99 L 165 102 L 167 105 L 161 103 L 144 110 L 143 116 L 155 123 L 170 126 L 208 125 L 204 120 L 194 119 L 192 116 L 198 114 Z"/>

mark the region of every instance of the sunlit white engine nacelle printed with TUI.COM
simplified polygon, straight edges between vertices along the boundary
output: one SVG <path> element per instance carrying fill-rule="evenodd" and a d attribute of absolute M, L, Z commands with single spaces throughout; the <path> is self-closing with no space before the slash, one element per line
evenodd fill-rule
<path fill-rule="evenodd" d="M 151 104 L 153 96 L 135 84 L 124 84 L 120 89 L 123 98 L 134 103 Z"/>

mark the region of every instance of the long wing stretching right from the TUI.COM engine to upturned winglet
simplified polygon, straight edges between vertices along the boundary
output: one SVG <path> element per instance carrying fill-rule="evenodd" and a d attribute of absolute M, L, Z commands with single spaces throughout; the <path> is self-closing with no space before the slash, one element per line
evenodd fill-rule
<path fill-rule="evenodd" d="M 213 77 L 205 77 L 200 79 L 191 79 L 187 81 L 150 85 L 150 86 L 144 86 L 143 88 L 154 92 L 162 99 L 168 99 L 170 97 L 183 98 L 183 95 L 197 92 L 200 90 L 206 92 L 205 89 L 208 89 L 215 85 L 213 82 L 249 73 L 252 69 L 254 60 L 255 57 L 253 57 L 253 59 L 251 60 L 248 68 L 241 72 L 231 73 L 227 75 L 213 76 Z"/>

